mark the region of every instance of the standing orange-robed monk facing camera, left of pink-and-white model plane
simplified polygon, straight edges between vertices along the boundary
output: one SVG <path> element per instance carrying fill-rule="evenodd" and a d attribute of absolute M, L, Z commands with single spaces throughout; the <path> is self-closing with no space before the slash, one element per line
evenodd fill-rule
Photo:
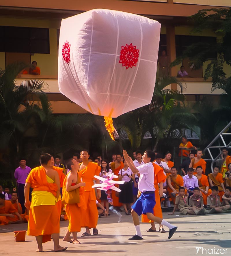
<path fill-rule="evenodd" d="M 83 151 L 81 151 L 80 157 L 83 160 L 83 162 L 79 164 L 79 177 L 82 179 L 83 182 L 86 183 L 83 194 L 85 197 L 85 205 L 87 209 L 81 209 L 81 226 L 86 228 L 86 231 L 81 235 L 82 237 L 84 237 L 91 235 L 90 228 L 93 228 L 93 235 L 98 235 L 98 230 L 96 229 L 98 221 L 96 198 L 99 199 L 101 197 L 101 192 L 99 189 L 97 189 L 96 197 L 95 189 L 92 188 L 92 186 L 94 185 L 94 175 L 99 176 L 101 169 L 96 163 L 88 161 L 88 150 L 84 149 Z M 96 183 L 99 184 L 100 181 L 96 179 Z"/>

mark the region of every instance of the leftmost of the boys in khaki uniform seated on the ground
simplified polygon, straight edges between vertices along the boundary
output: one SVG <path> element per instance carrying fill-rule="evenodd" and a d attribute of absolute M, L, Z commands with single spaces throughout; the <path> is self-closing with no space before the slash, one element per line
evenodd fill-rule
<path fill-rule="evenodd" d="M 188 195 L 185 195 L 185 188 L 179 188 L 179 195 L 176 196 L 176 202 L 172 213 L 169 215 L 173 215 L 176 211 L 176 208 L 179 209 L 181 214 L 192 214 L 192 215 L 204 215 L 204 210 L 198 210 L 195 206 L 190 207 L 188 205 Z"/>

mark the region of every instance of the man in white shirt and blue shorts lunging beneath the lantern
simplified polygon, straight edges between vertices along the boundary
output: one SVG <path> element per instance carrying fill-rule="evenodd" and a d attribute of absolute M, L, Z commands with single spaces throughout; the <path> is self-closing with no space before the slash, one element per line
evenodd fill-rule
<path fill-rule="evenodd" d="M 126 150 L 123 150 L 124 160 L 127 162 L 129 168 L 133 173 L 140 173 L 138 189 L 141 192 L 140 197 L 135 201 L 132 206 L 132 218 L 136 230 L 136 235 L 128 240 L 141 240 L 143 239 L 140 226 L 139 216 L 146 214 L 148 219 L 155 221 L 159 224 L 169 228 L 168 239 L 175 233 L 177 227 L 171 225 L 167 221 L 153 215 L 153 208 L 156 204 L 155 201 L 155 188 L 154 188 L 154 169 L 152 162 L 155 160 L 155 153 L 151 150 L 146 150 L 142 157 L 143 165 L 135 167 L 131 157 L 128 156 Z"/>

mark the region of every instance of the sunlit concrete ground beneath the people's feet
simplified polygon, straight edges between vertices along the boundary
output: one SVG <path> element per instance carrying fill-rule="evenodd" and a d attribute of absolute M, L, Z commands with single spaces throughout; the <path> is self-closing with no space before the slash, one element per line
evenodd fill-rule
<path fill-rule="evenodd" d="M 78 233 L 81 245 L 63 242 L 68 221 L 60 222 L 60 245 L 68 246 L 65 252 L 55 255 L 231 255 L 231 214 L 222 215 L 174 215 L 163 213 L 163 218 L 178 226 L 173 237 L 168 240 L 166 233 L 146 233 L 150 224 L 141 224 L 144 237 L 140 241 L 128 241 L 135 234 L 131 216 L 122 216 L 111 213 L 111 216 L 98 219 L 98 232 L 96 236 L 80 237 L 84 232 Z M 120 221 L 118 223 L 118 221 Z M 158 228 L 158 225 L 156 224 Z M 35 237 L 26 236 L 25 242 L 15 242 L 14 230 L 26 230 L 27 224 L 11 224 L 0 226 L 0 255 L 38 255 L 35 250 Z M 167 228 L 165 228 L 167 230 Z M 43 244 L 43 255 L 52 255 L 53 242 Z"/>

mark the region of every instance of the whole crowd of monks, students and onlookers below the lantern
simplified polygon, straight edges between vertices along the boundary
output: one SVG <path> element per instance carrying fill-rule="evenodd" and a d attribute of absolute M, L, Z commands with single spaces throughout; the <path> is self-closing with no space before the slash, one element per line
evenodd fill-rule
<path fill-rule="evenodd" d="M 171 238 L 177 227 L 163 220 L 162 202 L 165 207 L 174 205 L 170 214 L 176 210 L 191 215 L 230 213 L 231 157 L 228 148 L 222 149 L 221 168 L 215 166 L 208 176 L 205 175 L 202 150 L 194 147 L 185 136 L 179 148 L 179 155 L 185 158 L 180 170 L 171 161 L 171 152 L 166 152 L 163 158 L 150 150 L 134 151 L 134 160 L 124 150 L 123 155 L 113 154 L 111 162 L 100 155 L 91 159 L 89 152 L 83 150 L 74 154 L 65 165 L 60 156 L 43 154 L 41 166 L 32 170 L 26 165 L 26 159 L 21 158 L 14 173 L 16 188 L 10 193 L 11 188 L 5 186 L 3 190 L 0 185 L 0 225 L 29 222 L 28 235 L 36 237 L 38 251 L 42 251 L 42 243 L 50 241 L 51 236 L 55 251 L 60 251 L 66 250 L 59 245 L 60 220 L 69 220 L 63 240 L 79 244 L 77 232 L 81 227 L 85 227 L 82 237 L 90 236 L 91 228 L 93 235 L 98 235 L 98 218 L 110 216 L 109 206 L 118 211 L 122 211 L 122 206 L 125 215 L 132 215 L 136 235 L 130 240 L 143 239 L 139 215 L 142 215 L 142 222 L 151 224 L 146 232 L 155 232 L 154 222 L 157 222 L 159 232 L 165 233 L 164 226 L 167 226 Z M 195 149 L 196 154 L 192 152 Z M 107 178 L 112 173 L 118 176 L 115 180 L 124 181 L 124 184 L 115 185 L 120 193 L 92 188 L 94 183 L 102 182 L 94 175 Z M 71 233 L 73 239 L 70 239 Z"/>

